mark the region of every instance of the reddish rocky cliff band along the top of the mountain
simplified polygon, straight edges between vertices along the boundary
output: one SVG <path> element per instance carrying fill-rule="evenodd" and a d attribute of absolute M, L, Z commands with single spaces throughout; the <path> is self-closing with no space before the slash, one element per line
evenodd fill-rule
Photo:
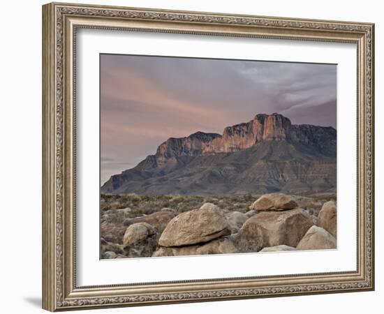
<path fill-rule="evenodd" d="M 253 120 L 227 126 L 223 135 L 196 132 L 188 137 L 170 137 L 156 151 L 157 163 L 180 156 L 200 156 L 239 151 L 262 141 L 286 140 L 309 146 L 336 141 L 336 130 L 321 126 L 293 125 L 282 114 L 256 114 Z M 319 147 L 320 148 L 320 147 Z"/>

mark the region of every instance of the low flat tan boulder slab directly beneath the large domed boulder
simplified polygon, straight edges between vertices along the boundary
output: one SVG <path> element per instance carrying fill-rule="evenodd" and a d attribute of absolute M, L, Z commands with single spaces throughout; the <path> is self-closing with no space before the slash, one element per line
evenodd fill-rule
<path fill-rule="evenodd" d="M 222 237 L 220 239 L 214 239 L 212 241 L 209 241 L 205 244 L 196 244 L 192 246 L 179 246 L 168 248 L 161 246 L 152 256 L 160 257 L 230 253 L 239 253 L 239 251 L 228 237 Z"/>

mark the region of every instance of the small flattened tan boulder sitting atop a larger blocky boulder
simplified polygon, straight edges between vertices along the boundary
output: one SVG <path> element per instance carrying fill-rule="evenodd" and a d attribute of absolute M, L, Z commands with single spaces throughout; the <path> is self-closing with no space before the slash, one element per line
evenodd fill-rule
<path fill-rule="evenodd" d="M 297 202 L 295 202 L 290 195 L 283 193 L 271 193 L 262 195 L 251 204 L 249 209 L 255 211 L 284 211 L 286 209 L 294 209 L 297 207 Z"/>

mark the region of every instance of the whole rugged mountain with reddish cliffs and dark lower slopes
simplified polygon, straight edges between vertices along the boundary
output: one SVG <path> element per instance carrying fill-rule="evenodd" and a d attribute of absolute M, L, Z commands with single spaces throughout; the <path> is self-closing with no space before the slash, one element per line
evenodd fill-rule
<path fill-rule="evenodd" d="M 243 194 L 336 190 L 332 127 L 291 124 L 281 114 L 257 114 L 223 135 L 197 132 L 160 144 L 156 154 L 115 174 L 102 193 Z"/>

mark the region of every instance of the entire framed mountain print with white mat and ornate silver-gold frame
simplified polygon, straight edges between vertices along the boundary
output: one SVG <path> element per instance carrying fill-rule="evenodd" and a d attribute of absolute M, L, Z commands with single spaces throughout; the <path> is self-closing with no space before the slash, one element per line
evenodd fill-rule
<path fill-rule="evenodd" d="M 374 24 L 43 6 L 43 308 L 374 290 Z"/>

